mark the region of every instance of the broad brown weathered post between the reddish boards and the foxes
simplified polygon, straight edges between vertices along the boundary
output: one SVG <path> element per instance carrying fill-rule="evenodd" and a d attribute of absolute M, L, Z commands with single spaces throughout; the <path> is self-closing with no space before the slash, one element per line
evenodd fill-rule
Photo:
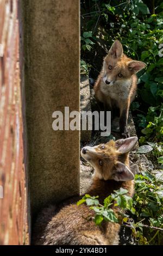
<path fill-rule="evenodd" d="M 32 214 L 79 193 L 79 131 L 54 131 L 54 111 L 79 111 L 79 1 L 20 0 Z"/>

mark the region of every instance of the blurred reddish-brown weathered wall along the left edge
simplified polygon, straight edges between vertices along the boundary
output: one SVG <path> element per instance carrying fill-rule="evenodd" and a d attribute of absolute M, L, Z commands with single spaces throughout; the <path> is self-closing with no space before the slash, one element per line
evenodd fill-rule
<path fill-rule="evenodd" d="M 0 245 L 29 243 L 17 1 L 0 1 Z M 24 145 L 23 145 L 24 144 Z M 2 196 L 2 195 L 1 195 Z"/>

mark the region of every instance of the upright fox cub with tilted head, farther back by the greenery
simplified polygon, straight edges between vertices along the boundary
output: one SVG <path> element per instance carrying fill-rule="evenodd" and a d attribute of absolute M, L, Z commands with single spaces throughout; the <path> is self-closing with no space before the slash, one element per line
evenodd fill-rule
<path fill-rule="evenodd" d="M 120 109 L 120 133 L 124 138 L 129 137 L 127 119 L 137 89 L 135 74 L 145 66 L 143 62 L 128 58 L 123 53 L 121 42 L 116 40 L 104 58 L 94 87 L 96 99 L 104 104 L 105 110 Z"/>

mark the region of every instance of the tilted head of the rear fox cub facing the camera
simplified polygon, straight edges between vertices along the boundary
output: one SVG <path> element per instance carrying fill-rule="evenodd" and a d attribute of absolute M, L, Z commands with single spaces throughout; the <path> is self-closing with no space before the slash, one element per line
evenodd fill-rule
<path fill-rule="evenodd" d="M 137 60 L 132 60 L 123 54 L 123 47 L 120 41 L 116 40 L 112 44 L 108 55 L 103 63 L 103 82 L 109 86 L 114 83 L 121 83 L 130 80 L 133 74 L 145 68 L 146 64 Z"/>

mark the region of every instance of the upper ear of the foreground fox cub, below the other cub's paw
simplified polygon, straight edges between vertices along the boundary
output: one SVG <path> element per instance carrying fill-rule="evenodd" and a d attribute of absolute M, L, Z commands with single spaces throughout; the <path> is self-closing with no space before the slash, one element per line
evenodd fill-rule
<path fill-rule="evenodd" d="M 129 137 L 127 139 L 118 139 L 118 141 L 115 142 L 115 147 L 120 153 L 124 154 L 124 153 L 128 153 L 131 149 L 133 149 L 136 142 L 137 142 L 137 137 Z"/>

